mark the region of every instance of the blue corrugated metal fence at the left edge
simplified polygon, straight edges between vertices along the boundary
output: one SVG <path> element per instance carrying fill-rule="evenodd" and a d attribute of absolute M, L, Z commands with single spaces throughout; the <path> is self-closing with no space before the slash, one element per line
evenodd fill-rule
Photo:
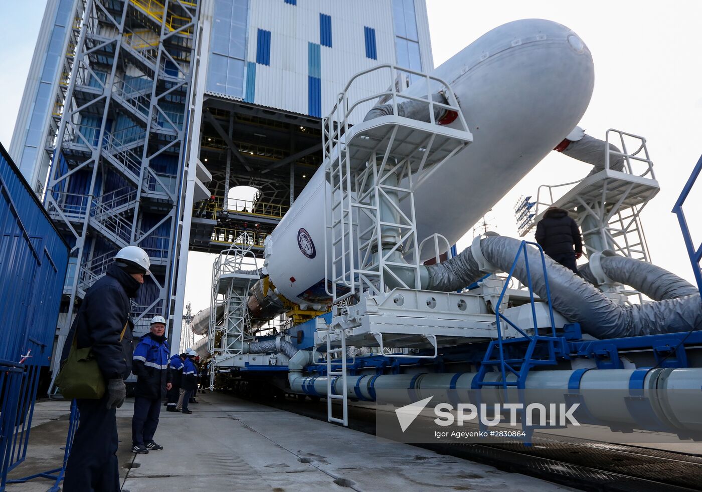
<path fill-rule="evenodd" d="M 68 246 L 0 145 L 0 491 L 27 456 L 41 367 L 48 366 Z"/>

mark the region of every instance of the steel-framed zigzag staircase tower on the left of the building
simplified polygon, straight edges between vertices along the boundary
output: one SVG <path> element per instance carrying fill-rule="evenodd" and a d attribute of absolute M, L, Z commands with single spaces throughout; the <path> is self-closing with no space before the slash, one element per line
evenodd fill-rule
<path fill-rule="evenodd" d="M 49 148 L 53 161 L 45 197 L 53 220 L 74 239 L 78 265 L 77 274 L 67 281 L 69 313 L 59 331 L 57 352 L 76 300 L 104 273 L 105 258 L 129 244 L 150 255 L 150 281 L 157 286 L 153 298 L 133 306 L 135 324 L 145 328 L 149 317 L 167 317 L 171 311 L 176 185 L 183 174 L 199 15 L 194 1 L 82 0 L 81 5 L 84 15 L 74 62 Z M 154 159 L 166 156 L 172 160 L 171 170 L 157 172 Z M 80 173 L 90 176 L 87 185 L 77 179 Z M 105 193 L 110 182 L 122 185 Z M 150 206 L 154 200 L 157 206 Z M 147 217 L 150 222 L 145 222 Z M 92 269 L 95 266 L 98 270 Z"/>

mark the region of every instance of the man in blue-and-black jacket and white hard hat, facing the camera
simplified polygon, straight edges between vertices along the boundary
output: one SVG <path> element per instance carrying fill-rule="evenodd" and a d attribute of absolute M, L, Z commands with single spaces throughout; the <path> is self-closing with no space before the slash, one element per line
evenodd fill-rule
<path fill-rule="evenodd" d="M 161 400 L 171 390 L 171 369 L 168 354 L 171 348 L 166 341 L 166 320 L 162 316 L 151 319 L 151 331 L 140 338 L 134 350 L 132 372 L 137 377 L 134 390 L 134 416 L 132 418 L 132 451 L 147 454 L 161 451 L 154 441 L 159 425 Z"/>

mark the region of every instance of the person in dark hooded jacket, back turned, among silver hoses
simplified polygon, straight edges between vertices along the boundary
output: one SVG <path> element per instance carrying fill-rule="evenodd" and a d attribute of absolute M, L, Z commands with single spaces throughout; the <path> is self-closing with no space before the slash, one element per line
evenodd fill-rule
<path fill-rule="evenodd" d="M 536 224 L 536 242 L 553 260 L 578 274 L 575 260 L 583 255 L 583 241 L 578 225 L 567 211 L 549 207 Z"/>

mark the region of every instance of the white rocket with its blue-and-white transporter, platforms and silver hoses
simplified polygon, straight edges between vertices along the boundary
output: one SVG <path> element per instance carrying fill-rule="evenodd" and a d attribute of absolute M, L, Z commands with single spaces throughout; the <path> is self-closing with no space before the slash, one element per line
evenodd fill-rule
<path fill-rule="evenodd" d="M 370 74 L 385 85 L 359 95 Z M 266 239 L 263 267 L 246 246 L 213 267 L 212 305 L 192 324 L 207 335 L 197 350 L 212 385 L 263 380 L 326 397 L 329 420 L 344 424 L 350 399 L 398 390 L 582 392 L 592 423 L 696 437 L 700 292 L 645 261 L 638 213 L 658 191 L 645 139 L 576 127 L 594 83 L 583 40 L 538 19 L 492 29 L 430 74 L 380 65 L 353 77 L 322 123 L 324 164 Z M 550 200 L 583 228 L 581 275 L 496 234 L 456 254 L 554 149 L 593 166 Z M 542 202 L 517 204 L 520 232 Z M 626 213 L 637 227 L 614 226 Z M 260 336 L 281 314 L 289 323 Z M 598 389 L 625 394 L 585 392 Z M 656 397 L 633 405 L 633 390 Z"/>

